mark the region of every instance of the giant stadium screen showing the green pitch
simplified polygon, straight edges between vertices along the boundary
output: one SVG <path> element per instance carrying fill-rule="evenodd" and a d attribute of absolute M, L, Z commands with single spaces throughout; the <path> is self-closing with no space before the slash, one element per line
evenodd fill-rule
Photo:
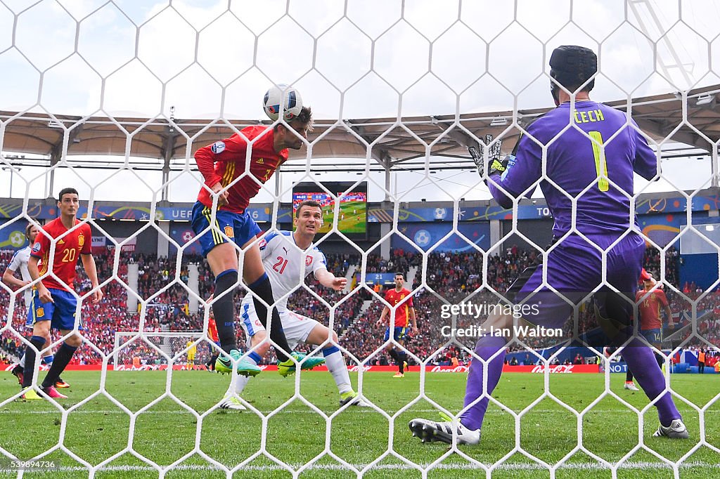
<path fill-rule="evenodd" d="M 327 233 L 333 228 L 335 201 L 339 202 L 338 230 L 346 234 L 366 234 L 367 232 L 367 183 L 357 185 L 352 191 L 344 193 L 354 183 L 333 182 L 323 186 L 336 196 L 323 191 L 315 183 L 298 183 L 292 188 L 292 213 L 302 201 L 315 200 L 323 206 L 323 227 L 319 233 Z"/>

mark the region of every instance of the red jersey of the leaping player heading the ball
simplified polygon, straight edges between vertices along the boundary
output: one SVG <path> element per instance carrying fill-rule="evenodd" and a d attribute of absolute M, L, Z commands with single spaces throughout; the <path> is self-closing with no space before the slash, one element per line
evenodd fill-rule
<path fill-rule="evenodd" d="M 220 182 L 227 186 L 235 178 L 245 173 L 248 141 L 259 137 L 249 147 L 251 150 L 250 173 L 261 183 L 265 183 L 275 173 L 275 170 L 287 160 L 287 149 L 275 152 L 273 147 L 274 132 L 268 130 L 266 125 L 256 125 L 240 130 L 247 138 L 235 133 L 227 140 L 215 142 L 202 147 L 195 152 L 197 168 L 209 187 Z M 250 200 L 260 191 L 260 185 L 250 175 L 244 176 L 228 190 L 228 204 L 219 209 L 242 213 L 250 204 Z M 197 195 L 197 201 L 208 208 L 212 207 L 212 196 L 202 188 Z"/>

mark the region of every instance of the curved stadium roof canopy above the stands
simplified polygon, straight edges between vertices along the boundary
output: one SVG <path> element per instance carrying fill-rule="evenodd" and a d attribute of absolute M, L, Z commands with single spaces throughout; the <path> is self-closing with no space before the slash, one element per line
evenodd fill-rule
<path fill-rule="evenodd" d="M 688 92 L 688 122 L 685 124 L 683 97 L 680 93 L 633 99 L 632 117 L 656 141 L 670 137 L 673 142 L 707 152 L 711 150 L 708 139 L 712 142 L 720 140 L 717 93 L 720 93 L 720 85 Z M 625 100 L 609 104 L 623 110 L 628 107 Z M 546 111 L 548 109 L 518 110 L 516 122 L 522 126 Z M 0 120 L 5 122 L 2 149 L 6 152 L 47 155 L 52 160 L 58 160 L 63 152 L 63 138 L 67 136 L 68 155 L 128 155 L 130 158 L 161 161 L 152 168 L 184 165 L 188 141 L 191 143 L 192 155 L 198 147 L 228 137 L 232 133 L 229 124 L 237 129 L 259 124 L 253 120 L 233 120 L 228 124 L 207 119 L 174 119 L 172 124 L 165 117 L 112 119 L 10 111 L 0 111 Z M 438 140 L 444 132 L 444 137 Z M 467 146 L 472 145 L 474 140 L 468 132 L 478 138 L 486 134 L 492 134 L 493 137 L 504 134 L 503 150 L 508 152 L 512 150 L 520 133 L 513 126 L 513 111 L 462 114 L 457 119 L 454 115 L 404 117 L 402 124 L 395 118 L 341 122 L 320 120 L 315 123 L 315 130 L 309 137 L 311 142 L 317 140 L 312 145 L 313 161 L 320 160 L 313 166 L 313 170 L 336 169 L 338 164 L 343 167 L 355 164 L 356 168 L 363 169 L 368 145 L 372 145 L 370 156 L 374 161 L 369 165 L 372 170 L 392 169 L 413 158 L 423 158 L 424 162 L 428 150 L 432 157 L 456 158 L 452 162 L 455 168 L 469 168 L 472 164 L 467 155 Z M 427 146 L 433 142 L 432 146 Z M 291 152 L 290 158 L 303 160 L 289 162 L 291 169 L 293 164 L 304 165 L 306 152 Z M 350 158 L 356 161 L 348 161 Z M 327 159 L 327 162 L 323 162 L 323 159 Z M 358 159 L 361 161 L 358 162 Z M 447 160 L 443 162 L 443 168 L 448 168 Z"/>

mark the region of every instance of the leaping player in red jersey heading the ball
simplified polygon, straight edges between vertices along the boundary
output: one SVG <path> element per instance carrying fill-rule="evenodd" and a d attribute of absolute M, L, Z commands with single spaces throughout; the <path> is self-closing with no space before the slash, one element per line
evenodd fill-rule
<path fill-rule="evenodd" d="M 220 355 L 217 358 L 215 369 L 220 373 L 230 373 L 233 362 L 238 365 L 240 374 L 260 373 L 260 368 L 241 357 L 235 336 L 233 296 L 238 286 L 238 251 L 235 245 L 243 249 L 243 280 L 254 293 L 258 318 L 266 327 L 268 311 L 265 305 L 272 305 L 275 300 L 270 280 L 263 268 L 260 250 L 254 242 L 261 229 L 246 209 L 260 190 L 261 183 L 268 181 L 287 160 L 288 148 L 299 150 L 310 129 L 312 111 L 304 106 L 300 114 L 288 124 L 279 123 L 272 128 L 264 125 L 246 127 L 240 131 L 241 134 L 233 134 L 227 140 L 215 142 L 195 152 L 204 187 L 192 209 L 192 229 L 199 237 L 202 254 L 215 275 L 212 310 L 220 347 L 229 356 Z M 249 174 L 244 175 L 246 173 Z M 244 176 L 240 178 L 240 175 Z M 213 217 L 212 202 L 216 196 L 217 211 Z M 206 230 L 207 233 L 203 234 Z M 270 339 L 276 345 L 278 362 L 294 365 L 285 354 L 290 352 L 290 348 L 277 309 L 273 307 L 271 314 Z M 302 360 L 302 355 L 292 355 L 296 360 Z M 310 359 L 303 362 L 302 369 L 312 366 L 309 364 Z"/>

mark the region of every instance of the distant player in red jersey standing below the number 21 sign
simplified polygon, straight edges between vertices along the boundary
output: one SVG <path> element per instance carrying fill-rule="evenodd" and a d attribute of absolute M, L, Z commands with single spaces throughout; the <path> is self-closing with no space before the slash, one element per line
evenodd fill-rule
<path fill-rule="evenodd" d="M 409 336 L 413 330 L 418 330 L 418 322 L 415 319 L 415 307 L 413 306 L 413 296 L 410 295 L 410 291 L 404 288 L 405 276 L 402 273 L 395 273 L 395 288 L 385 293 L 385 301 L 392 306 L 395 311 L 395 325 L 392 328 L 392 338 L 395 339 L 398 345 L 401 347 L 405 344 L 405 337 Z M 378 326 L 382 326 L 385 322 L 385 316 L 390 313 L 390 308 L 387 306 L 382 310 L 380 319 L 377 321 Z M 391 314 L 392 316 L 392 314 Z M 410 327 L 409 321 L 413 321 L 413 326 Z M 384 341 L 390 339 L 390 325 L 385 329 Z M 390 357 L 395 360 L 397 365 L 397 373 L 393 378 L 405 378 L 405 366 L 408 365 L 408 355 L 405 350 L 395 350 L 395 345 L 392 342 L 387 345 L 387 352 Z"/>

